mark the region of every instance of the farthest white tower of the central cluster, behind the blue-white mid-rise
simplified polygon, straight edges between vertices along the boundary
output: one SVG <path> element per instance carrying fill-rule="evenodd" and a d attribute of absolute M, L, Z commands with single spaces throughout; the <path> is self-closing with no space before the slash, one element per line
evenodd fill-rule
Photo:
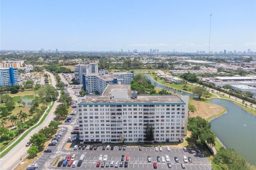
<path fill-rule="evenodd" d="M 83 74 L 99 73 L 98 62 L 88 61 L 85 64 L 77 64 L 74 66 L 75 80 L 80 84 L 83 83 Z"/>

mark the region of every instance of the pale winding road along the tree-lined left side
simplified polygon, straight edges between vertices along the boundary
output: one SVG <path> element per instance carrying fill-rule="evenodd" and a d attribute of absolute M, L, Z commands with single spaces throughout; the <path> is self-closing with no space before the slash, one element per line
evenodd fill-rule
<path fill-rule="evenodd" d="M 50 74 L 52 86 L 55 87 L 56 81 L 53 74 L 49 72 L 47 73 Z M 51 122 L 51 120 L 53 120 L 53 113 L 57 105 L 58 103 L 55 102 L 51 111 L 49 112 L 49 115 L 47 115 L 47 117 L 45 118 L 45 121 L 41 125 L 37 126 L 37 128 L 35 128 L 33 131 L 31 131 L 25 139 L 20 141 L 18 145 L 16 145 L 11 151 L 9 151 L 3 158 L 0 159 L 1 170 L 14 169 L 21 162 L 21 160 L 27 156 L 27 150 L 29 147 L 25 147 L 26 143 L 29 141 L 31 135 L 37 133 L 41 128 L 47 126 Z"/>

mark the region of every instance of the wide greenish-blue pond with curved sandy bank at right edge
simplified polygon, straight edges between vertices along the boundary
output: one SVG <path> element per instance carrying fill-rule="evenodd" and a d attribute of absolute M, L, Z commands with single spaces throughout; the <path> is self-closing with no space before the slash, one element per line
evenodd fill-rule
<path fill-rule="evenodd" d="M 223 106 L 227 113 L 211 121 L 211 129 L 226 148 L 233 148 L 250 164 L 256 165 L 256 116 L 224 99 L 211 103 Z"/>

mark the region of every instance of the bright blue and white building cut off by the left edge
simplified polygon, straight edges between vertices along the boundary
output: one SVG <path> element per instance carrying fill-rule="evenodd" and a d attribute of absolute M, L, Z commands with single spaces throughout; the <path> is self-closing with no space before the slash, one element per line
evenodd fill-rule
<path fill-rule="evenodd" d="M 18 68 L 0 67 L 0 87 L 19 85 Z"/>

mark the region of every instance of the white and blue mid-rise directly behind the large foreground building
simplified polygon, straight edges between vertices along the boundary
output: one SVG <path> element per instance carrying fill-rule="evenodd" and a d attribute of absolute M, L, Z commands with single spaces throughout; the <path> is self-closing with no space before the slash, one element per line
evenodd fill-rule
<path fill-rule="evenodd" d="M 108 84 L 130 84 L 133 80 L 133 72 L 110 73 L 100 71 L 99 74 L 83 74 L 83 89 L 88 94 L 98 91 L 103 94 Z"/>

